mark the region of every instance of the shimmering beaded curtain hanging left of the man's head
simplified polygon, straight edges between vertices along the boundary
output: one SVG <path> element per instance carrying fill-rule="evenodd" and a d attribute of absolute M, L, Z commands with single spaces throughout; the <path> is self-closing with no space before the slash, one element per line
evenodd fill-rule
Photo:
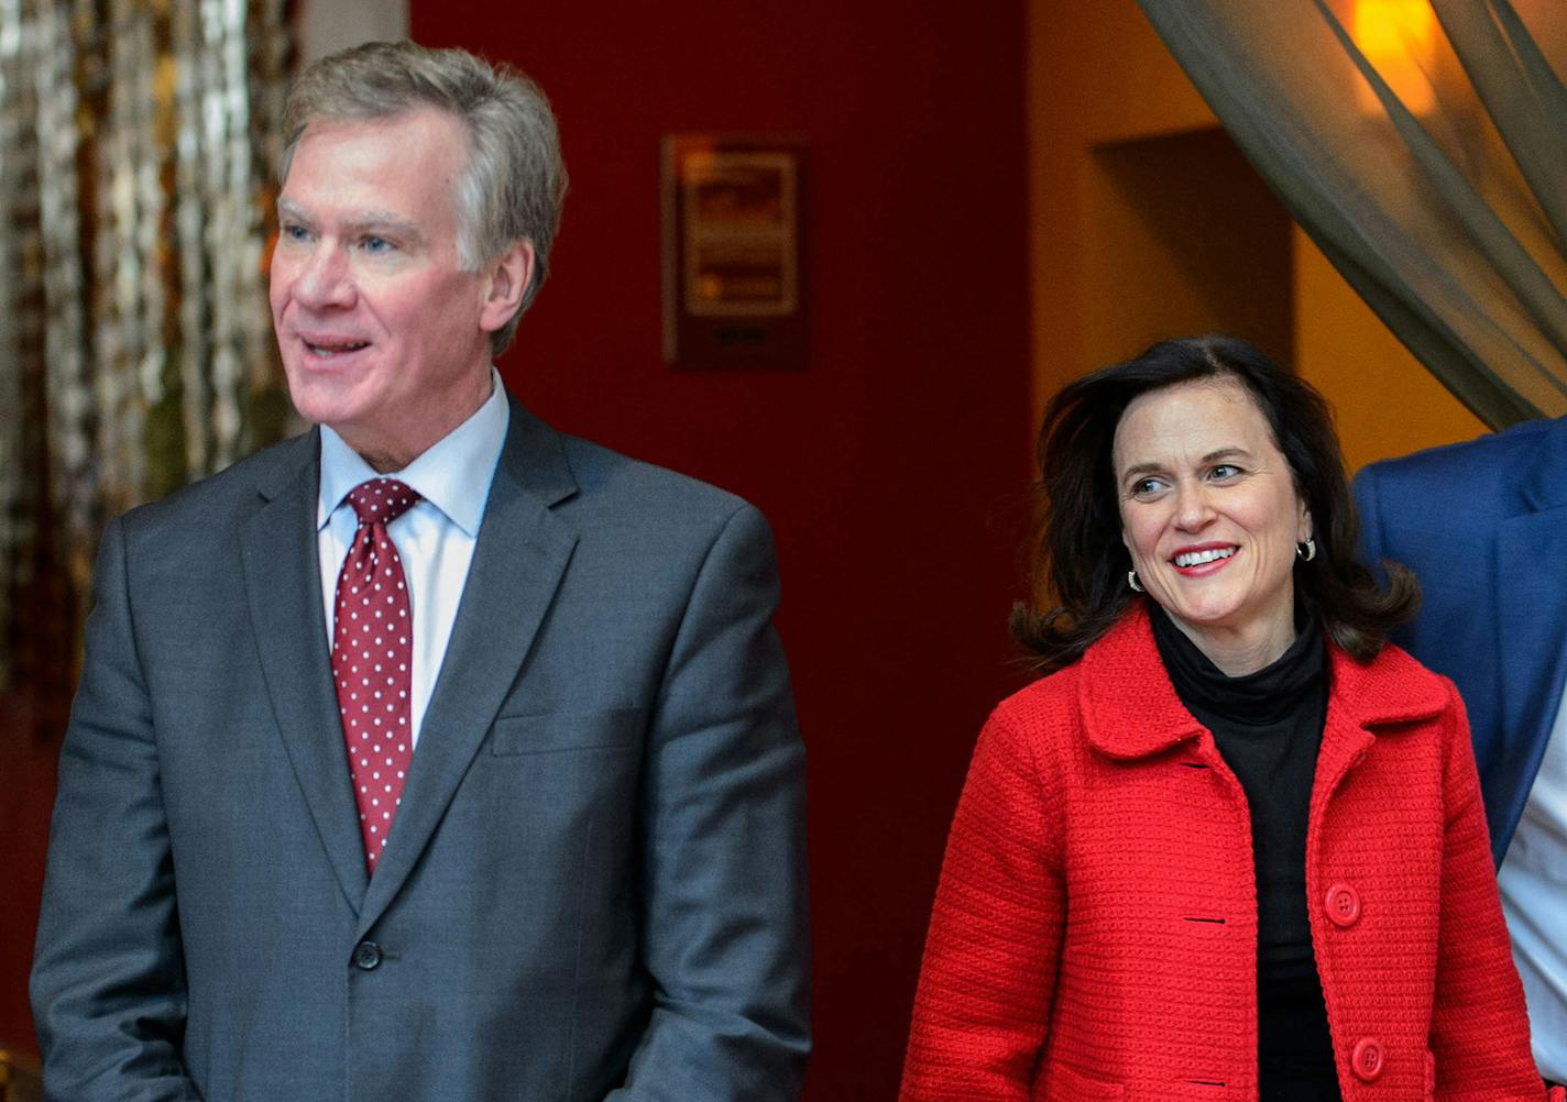
<path fill-rule="evenodd" d="M 108 518 L 287 427 L 265 288 L 285 8 L 0 0 L 0 701 L 39 729 Z"/>

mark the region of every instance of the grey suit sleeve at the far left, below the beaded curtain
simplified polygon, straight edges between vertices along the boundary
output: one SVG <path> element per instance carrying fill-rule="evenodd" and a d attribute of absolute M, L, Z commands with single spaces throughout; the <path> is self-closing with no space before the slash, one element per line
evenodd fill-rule
<path fill-rule="evenodd" d="M 185 975 L 121 521 L 103 534 L 60 754 L 31 977 L 50 1102 L 188 1102 Z"/>

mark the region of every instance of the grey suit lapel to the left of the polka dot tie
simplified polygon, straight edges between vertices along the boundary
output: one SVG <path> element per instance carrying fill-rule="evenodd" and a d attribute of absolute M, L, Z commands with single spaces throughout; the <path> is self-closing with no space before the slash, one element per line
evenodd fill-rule
<path fill-rule="evenodd" d="M 365 850 L 321 612 L 315 528 L 320 454 L 315 432 L 301 437 L 274 477 L 259 487 L 266 504 L 244 524 L 240 560 L 277 729 L 326 856 L 357 911 L 365 894 Z"/>

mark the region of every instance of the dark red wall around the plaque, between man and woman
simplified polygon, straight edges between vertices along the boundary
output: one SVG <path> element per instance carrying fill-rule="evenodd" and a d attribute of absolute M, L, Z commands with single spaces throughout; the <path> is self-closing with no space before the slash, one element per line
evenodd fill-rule
<path fill-rule="evenodd" d="M 1023 5 L 414 0 L 412 23 L 520 66 L 561 119 L 566 224 L 508 382 L 774 524 L 810 762 L 807 1097 L 892 1097 L 946 822 L 1020 682 Z M 658 139 L 680 130 L 807 138 L 807 371 L 661 363 Z"/>

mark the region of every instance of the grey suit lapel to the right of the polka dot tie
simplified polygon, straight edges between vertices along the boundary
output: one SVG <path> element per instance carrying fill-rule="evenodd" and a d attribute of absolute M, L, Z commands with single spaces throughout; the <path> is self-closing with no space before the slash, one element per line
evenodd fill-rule
<path fill-rule="evenodd" d="M 550 506 L 575 492 L 559 438 L 511 402 L 451 642 L 392 836 L 365 894 L 360 931 L 375 925 L 418 863 L 522 670 L 577 546 L 575 531 Z"/>

